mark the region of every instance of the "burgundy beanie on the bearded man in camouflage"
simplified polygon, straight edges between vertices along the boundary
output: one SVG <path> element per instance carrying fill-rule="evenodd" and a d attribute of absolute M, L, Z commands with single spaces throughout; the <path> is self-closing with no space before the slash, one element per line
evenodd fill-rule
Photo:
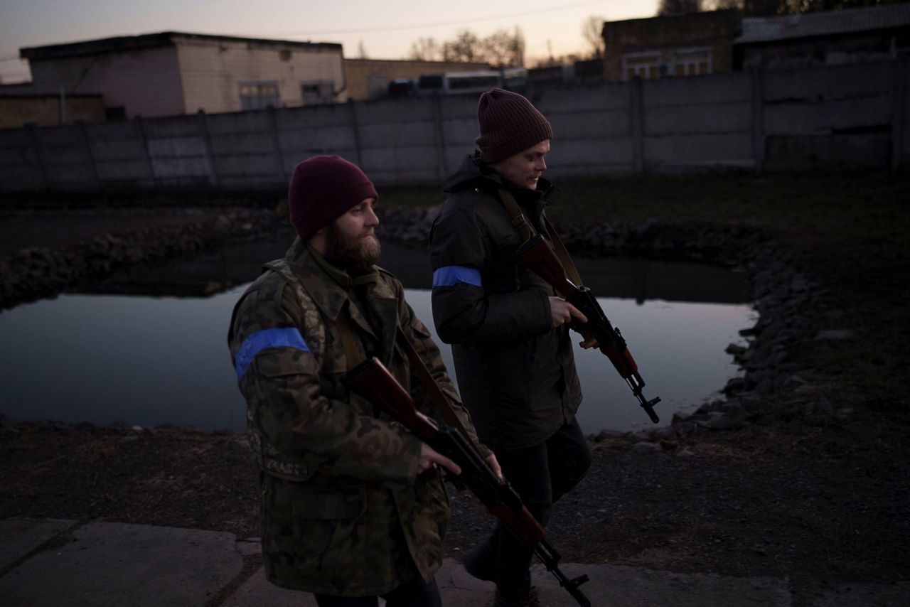
<path fill-rule="evenodd" d="M 288 187 L 290 222 L 307 240 L 364 198 L 379 198 L 363 171 L 339 156 L 314 156 L 294 167 Z"/>

